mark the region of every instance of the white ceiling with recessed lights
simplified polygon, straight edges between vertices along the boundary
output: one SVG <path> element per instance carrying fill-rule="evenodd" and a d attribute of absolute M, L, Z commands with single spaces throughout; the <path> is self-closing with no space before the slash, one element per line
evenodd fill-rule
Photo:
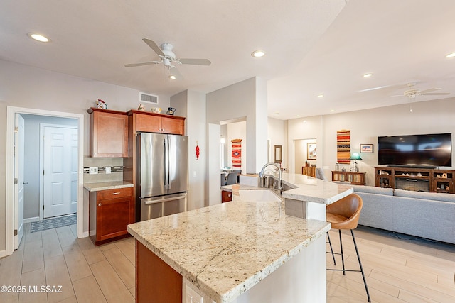
<path fill-rule="evenodd" d="M 0 59 L 165 96 L 263 77 L 269 116 L 293 119 L 455 97 L 454 16 L 453 0 L 4 0 Z M 142 38 L 212 65 L 124 67 L 159 59 Z M 408 82 L 451 94 L 389 97 Z"/>

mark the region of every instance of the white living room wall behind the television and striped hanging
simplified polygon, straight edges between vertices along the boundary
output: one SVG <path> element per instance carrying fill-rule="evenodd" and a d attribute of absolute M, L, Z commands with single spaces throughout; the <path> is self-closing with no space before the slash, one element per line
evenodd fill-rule
<path fill-rule="evenodd" d="M 366 183 L 374 185 L 374 167 L 378 164 L 378 136 L 413 135 L 425 133 L 455 133 L 455 98 L 439 99 L 378 109 L 314 116 L 289 120 L 290 145 L 297 138 L 316 138 L 318 166 L 323 165 L 326 176 L 336 165 L 336 131 L 350 130 L 350 151 L 359 152 L 360 143 L 373 143 L 374 153 L 361 153 L 360 172 L 366 172 Z M 306 123 L 304 123 L 306 121 Z M 322 144 L 321 144 L 322 143 Z M 452 150 L 455 138 L 452 136 Z M 319 155 L 322 155 L 321 159 Z M 291 159 L 291 149 L 289 158 Z M 452 154 L 452 165 L 454 165 Z M 341 165 L 348 170 L 350 165 Z"/>

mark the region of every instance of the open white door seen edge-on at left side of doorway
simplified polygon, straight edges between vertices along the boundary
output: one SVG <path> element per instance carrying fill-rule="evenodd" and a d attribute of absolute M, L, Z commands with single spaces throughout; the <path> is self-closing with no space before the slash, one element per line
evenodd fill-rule
<path fill-rule="evenodd" d="M 14 249 L 19 247 L 23 236 L 23 117 L 14 119 Z"/>

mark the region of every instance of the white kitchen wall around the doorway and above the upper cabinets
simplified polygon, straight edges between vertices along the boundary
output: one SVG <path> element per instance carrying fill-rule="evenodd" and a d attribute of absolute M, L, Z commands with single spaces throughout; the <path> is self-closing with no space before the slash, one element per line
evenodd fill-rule
<path fill-rule="evenodd" d="M 150 92 L 153 93 L 153 92 Z M 109 109 L 137 109 L 139 91 L 0 60 L 0 120 L 6 121 L 6 106 L 84 114 L 84 154 L 89 150 L 89 115 L 87 109 L 97 99 Z M 169 97 L 159 96 L 159 106 L 166 109 Z M 6 142 L 6 123 L 0 123 L 0 142 Z M 0 145 L 0 222 L 5 222 L 6 146 Z M 87 216 L 88 201 L 84 201 Z M 87 221 L 85 221 L 87 222 Z M 84 231 L 88 231 L 84 226 Z M 5 224 L 0 224 L 0 251 L 6 246 Z"/>

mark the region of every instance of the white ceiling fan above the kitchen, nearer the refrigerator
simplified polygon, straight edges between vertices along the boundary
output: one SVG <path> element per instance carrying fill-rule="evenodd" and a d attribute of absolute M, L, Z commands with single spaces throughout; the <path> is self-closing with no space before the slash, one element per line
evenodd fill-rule
<path fill-rule="evenodd" d="M 182 79 L 183 76 L 178 72 L 177 68 L 173 65 L 173 63 L 178 64 L 188 64 L 188 65 L 210 65 L 212 62 L 208 59 L 178 59 L 176 54 L 173 53 L 172 48 L 173 45 L 169 43 L 161 44 L 161 48 L 155 43 L 154 40 L 150 40 L 147 38 L 142 39 L 149 47 L 154 50 L 154 52 L 159 55 L 159 61 L 149 61 L 149 62 L 141 62 L 141 63 L 132 63 L 126 64 L 125 67 L 136 67 L 142 65 L 152 65 L 152 64 L 160 64 L 163 63 L 164 66 L 168 67 L 171 75 L 169 77 L 171 79 Z"/>

